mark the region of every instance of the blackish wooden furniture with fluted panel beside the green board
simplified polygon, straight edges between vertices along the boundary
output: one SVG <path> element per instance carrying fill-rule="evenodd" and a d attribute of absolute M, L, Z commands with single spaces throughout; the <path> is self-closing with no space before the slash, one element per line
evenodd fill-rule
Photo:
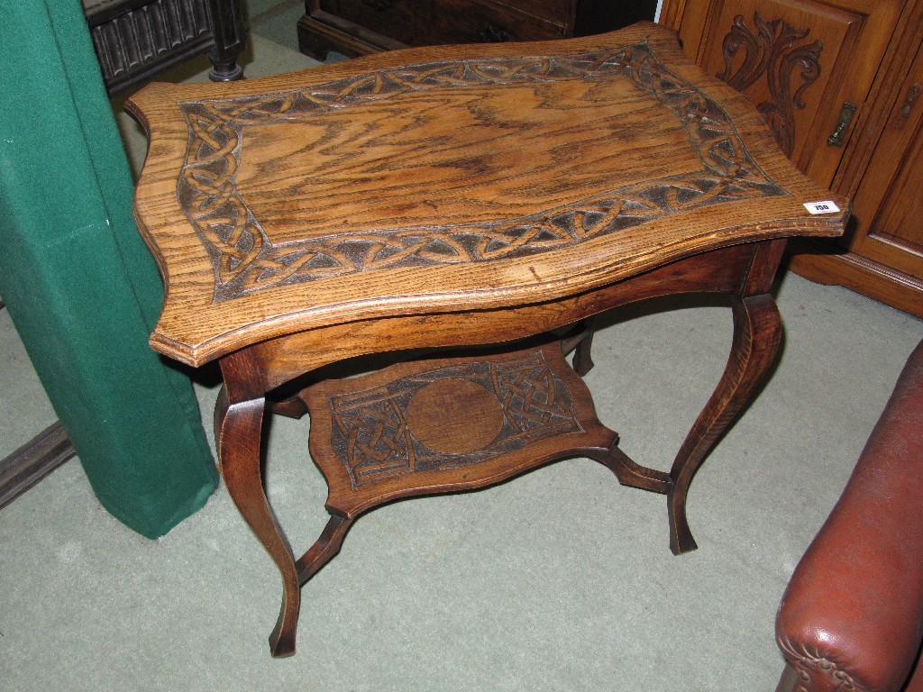
<path fill-rule="evenodd" d="M 240 0 L 83 0 L 83 8 L 110 96 L 201 54 L 213 81 L 243 77 Z"/>

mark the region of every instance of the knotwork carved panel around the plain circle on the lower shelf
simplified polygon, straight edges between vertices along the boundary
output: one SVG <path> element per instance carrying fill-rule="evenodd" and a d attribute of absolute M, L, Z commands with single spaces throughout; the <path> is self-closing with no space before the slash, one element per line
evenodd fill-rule
<path fill-rule="evenodd" d="M 497 397 L 503 421 L 494 440 L 463 455 L 427 448 L 414 437 L 408 407 L 421 389 L 440 379 L 461 379 Z M 516 359 L 451 364 L 387 385 L 329 398 L 331 447 L 353 488 L 420 471 L 472 466 L 547 437 L 580 432 L 566 385 L 542 352 Z M 433 412 L 438 418 L 438 412 Z"/>

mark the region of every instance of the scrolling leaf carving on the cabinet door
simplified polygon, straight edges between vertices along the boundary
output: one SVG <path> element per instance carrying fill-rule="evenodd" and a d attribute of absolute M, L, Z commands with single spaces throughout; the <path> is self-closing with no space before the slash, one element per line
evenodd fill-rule
<path fill-rule="evenodd" d="M 772 101 L 758 103 L 757 110 L 773 131 L 779 148 L 785 156 L 791 156 L 795 150 L 795 111 L 805 107 L 805 91 L 821 77 L 823 43 L 797 45 L 808 37 L 810 30 L 796 30 L 785 19 L 767 22 L 759 12 L 754 12 L 753 23 L 755 32 L 744 22 L 743 15 L 734 18 L 722 45 L 725 69 L 717 77 L 743 91 L 766 76 Z M 744 50 L 745 58 L 732 73 L 731 62 L 740 49 Z M 801 84 L 793 92 L 792 75 L 798 67 Z"/>

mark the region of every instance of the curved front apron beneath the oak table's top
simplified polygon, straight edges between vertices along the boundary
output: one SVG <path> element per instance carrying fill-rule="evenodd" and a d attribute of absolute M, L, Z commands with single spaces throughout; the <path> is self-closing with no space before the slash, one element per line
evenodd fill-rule
<path fill-rule="evenodd" d="M 390 316 L 308 329 L 222 359 L 232 402 L 263 396 L 294 377 L 369 353 L 517 340 L 620 305 L 682 293 L 746 297 L 768 292 L 785 241 L 732 245 L 555 301 L 491 310 Z"/>

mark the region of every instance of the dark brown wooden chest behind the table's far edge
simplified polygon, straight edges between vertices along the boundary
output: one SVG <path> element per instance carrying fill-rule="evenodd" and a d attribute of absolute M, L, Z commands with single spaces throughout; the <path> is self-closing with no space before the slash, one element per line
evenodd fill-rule
<path fill-rule="evenodd" d="M 448 43 L 542 41 L 653 19 L 654 0 L 306 0 L 302 53 L 362 55 Z"/>

